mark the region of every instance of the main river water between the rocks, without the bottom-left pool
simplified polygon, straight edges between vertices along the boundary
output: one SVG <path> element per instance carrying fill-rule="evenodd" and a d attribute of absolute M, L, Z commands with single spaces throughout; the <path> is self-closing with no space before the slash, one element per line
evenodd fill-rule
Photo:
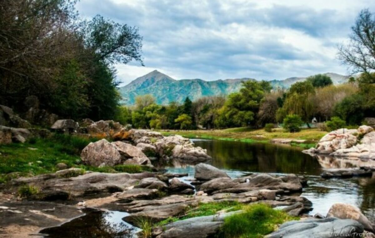
<path fill-rule="evenodd" d="M 314 158 L 303 154 L 298 147 L 274 144 L 252 144 L 236 141 L 193 140 L 195 145 L 207 149 L 213 158 L 211 164 L 225 170 L 231 177 L 239 177 L 246 172 L 267 172 L 276 174 L 298 174 L 308 178 L 305 196 L 313 203 L 311 214 L 327 214 L 332 204 L 344 202 L 359 207 L 375 222 L 375 178 L 323 179 L 323 168 L 352 168 L 363 165 L 360 161 Z M 375 163 L 373 164 L 375 166 Z M 189 165 L 174 164 L 171 172 L 187 172 L 194 176 L 194 168 Z M 186 178 L 183 178 L 185 180 Z"/>

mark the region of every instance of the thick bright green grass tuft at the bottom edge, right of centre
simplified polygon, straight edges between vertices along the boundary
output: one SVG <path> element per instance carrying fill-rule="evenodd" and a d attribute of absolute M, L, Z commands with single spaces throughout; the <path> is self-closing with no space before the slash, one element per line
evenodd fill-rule
<path fill-rule="evenodd" d="M 260 238 L 275 231 L 278 225 L 298 218 L 281 210 L 274 210 L 266 204 L 245 206 L 244 211 L 224 219 L 217 237 Z"/>

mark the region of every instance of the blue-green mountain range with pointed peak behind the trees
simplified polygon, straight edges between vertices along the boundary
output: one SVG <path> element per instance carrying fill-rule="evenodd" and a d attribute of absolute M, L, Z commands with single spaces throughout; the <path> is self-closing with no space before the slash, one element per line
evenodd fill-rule
<path fill-rule="evenodd" d="M 332 78 L 334 84 L 345 82 L 347 76 L 336 73 L 324 73 Z M 287 78 L 284 80 L 272 80 L 270 83 L 274 88 L 289 88 L 295 82 L 304 81 L 306 78 Z M 219 79 L 215 81 L 204 81 L 202 79 L 175 80 L 168 75 L 154 70 L 119 88 L 121 96 L 126 99 L 127 105 L 135 103 L 138 95 L 151 94 L 156 98 L 158 104 L 169 102 L 183 102 L 186 97 L 196 100 L 204 96 L 227 95 L 239 91 L 241 82 L 255 80 L 252 78 L 241 79 Z"/>

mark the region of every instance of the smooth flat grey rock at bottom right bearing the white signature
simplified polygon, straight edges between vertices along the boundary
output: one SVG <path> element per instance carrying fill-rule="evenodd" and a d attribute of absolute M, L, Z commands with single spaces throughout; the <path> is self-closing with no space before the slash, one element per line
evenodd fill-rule
<path fill-rule="evenodd" d="M 352 237 L 362 234 L 363 226 L 354 220 L 329 217 L 324 219 L 306 219 L 282 224 L 279 229 L 266 238 L 332 238 Z"/>

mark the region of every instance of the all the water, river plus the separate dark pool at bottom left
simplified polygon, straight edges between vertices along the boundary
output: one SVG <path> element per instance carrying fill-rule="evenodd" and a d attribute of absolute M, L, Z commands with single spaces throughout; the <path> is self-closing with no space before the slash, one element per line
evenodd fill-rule
<path fill-rule="evenodd" d="M 311 214 L 327 214 L 332 204 L 344 202 L 359 207 L 375 222 L 375 177 L 349 179 L 323 179 L 323 168 L 351 168 L 364 165 L 360 161 L 334 159 L 331 157 L 313 158 L 303 154 L 300 148 L 287 145 L 251 144 L 235 141 L 193 140 L 195 145 L 207 149 L 213 158 L 211 164 L 225 170 L 230 177 L 240 177 L 248 172 L 275 174 L 298 174 L 308 178 L 308 187 L 303 189 L 305 196 L 313 203 Z M 375 166 L 375 162 L 373 162 Z M 187 173 L 180 180 L 190 183 L 194 176 L 192 165 L 174 162 L 169 172 Z M 89 211 L 87 215 L 65 223 L 62 226 L 42 231 L 48 237 L 134 237 L 138 228 L 121 220 L 127 213 L 119 211 Z"/>

